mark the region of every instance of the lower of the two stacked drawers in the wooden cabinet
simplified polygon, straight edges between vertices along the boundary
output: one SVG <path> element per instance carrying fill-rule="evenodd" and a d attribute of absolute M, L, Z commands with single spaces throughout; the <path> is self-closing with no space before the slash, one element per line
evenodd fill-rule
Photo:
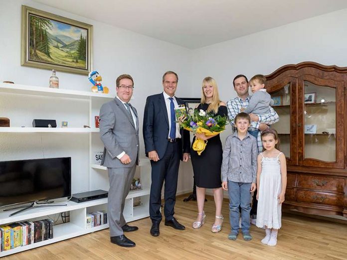
<path fill-rule="evenodd" d="M 339 194 L 298 190 L 297 199 L 298 202 L 344 206 L 344 195 Z"/>

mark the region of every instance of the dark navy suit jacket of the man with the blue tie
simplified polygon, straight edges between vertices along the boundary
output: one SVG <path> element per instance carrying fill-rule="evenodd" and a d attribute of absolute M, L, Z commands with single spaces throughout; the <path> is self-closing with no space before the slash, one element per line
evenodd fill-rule
<path fill-rule="evenodd" d="M 184 104 L 184 101 L 176 98 L 177 104 Z M 156 150 L 159 159 L 163 158 L 168 146 L 169 118 L 163 93 L 147 97 L 143 134 L 145 141 L 146 156 L 148 152 Z M 182 160 L 183 152 L 190 151 L 190 137 L 188 130 L 180 129 L 181 139 L 179 140 L 179 156 Z"/>

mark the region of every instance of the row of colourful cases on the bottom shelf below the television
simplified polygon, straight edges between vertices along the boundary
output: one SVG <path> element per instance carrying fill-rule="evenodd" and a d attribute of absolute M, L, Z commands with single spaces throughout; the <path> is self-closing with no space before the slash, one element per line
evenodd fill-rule
<path fill-rule="evenodd" d="M 53 238 L 53 220 L 24 221 L 0 226 L 0 249 L 10 250 Z"/>

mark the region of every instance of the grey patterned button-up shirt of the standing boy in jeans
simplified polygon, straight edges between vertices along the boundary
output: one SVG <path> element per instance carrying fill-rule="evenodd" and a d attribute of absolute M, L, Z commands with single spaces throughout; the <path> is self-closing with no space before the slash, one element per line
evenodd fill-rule
<path fill-rule="evenodd" d="M 221 167 L 222 181 L 256 183 L 258 147 L 248 132 L 240 140 L 237 131 L 225 141 Z"/>

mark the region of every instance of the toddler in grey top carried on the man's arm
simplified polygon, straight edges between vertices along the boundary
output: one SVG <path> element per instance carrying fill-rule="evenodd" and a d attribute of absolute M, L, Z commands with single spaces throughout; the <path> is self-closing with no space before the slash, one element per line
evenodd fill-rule
<path fill-rule="evenodd" d="M 247 114 L 255 115 L 266 115 L 270 113 L 270 106 L 274 104 L 269 93 L 264 89 L 266 83 L 266 78 L 264 75 L 255 75 L 249 81 L 249 85 L 253 92 L 251 99 L 249 100 L 249 105 L 247 108 L 242 110 Z M 258 130 L 248 131 L 255 138 L 258 136 Z"/>

